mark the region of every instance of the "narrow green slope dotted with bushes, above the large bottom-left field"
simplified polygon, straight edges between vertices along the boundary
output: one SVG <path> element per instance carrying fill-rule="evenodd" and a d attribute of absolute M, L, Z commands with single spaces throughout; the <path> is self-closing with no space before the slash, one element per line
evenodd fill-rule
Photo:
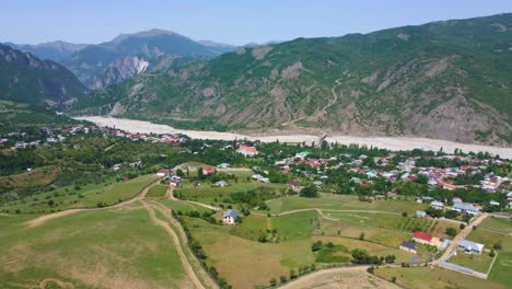
<path fill-rule="evenodd" d="M 155 181 L 155 175 L 143 175 L 128 182 L 91 184 L 82 187 L 62 187 L 4 204 L 0 211 L 50 212 L 69 208 L 110 206 L 135 197 L 140 190 Z M 53 201 L 50 206 L 48 201 Z"/>

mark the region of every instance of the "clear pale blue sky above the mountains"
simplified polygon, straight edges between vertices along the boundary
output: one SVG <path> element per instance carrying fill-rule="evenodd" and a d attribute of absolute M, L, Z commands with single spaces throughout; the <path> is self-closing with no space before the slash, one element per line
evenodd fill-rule
<path fill-rule="evenodd" d="M 0 42 L 101 43 L 164 28 L 242 45 L 503 12 L 511 0 L 1 0 Z"/>

